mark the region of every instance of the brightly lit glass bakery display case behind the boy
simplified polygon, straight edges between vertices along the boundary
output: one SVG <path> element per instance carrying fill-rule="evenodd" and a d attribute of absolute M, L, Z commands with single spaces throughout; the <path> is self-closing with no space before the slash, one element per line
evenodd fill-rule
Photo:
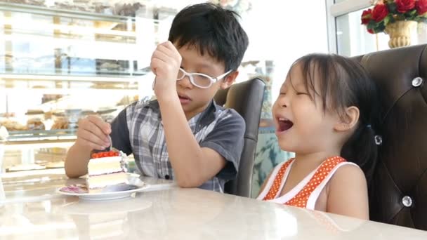
<path fill-rule="evenodd" d="M 151 98 L 150 56 L 176 13 L 110 1 L 88 1 L 85 9 L 40 2 L 0 2 L 3 172 L 61 167 L 79 119 L 97 114 L 110 122 L 131 102 Z"/>

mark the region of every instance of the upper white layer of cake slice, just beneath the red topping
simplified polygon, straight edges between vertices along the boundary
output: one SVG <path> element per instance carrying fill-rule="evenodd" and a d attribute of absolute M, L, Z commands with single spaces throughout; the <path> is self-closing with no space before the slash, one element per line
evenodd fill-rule
<path fill-rule="evenodd" d="M 91 159 L 88 163 L 88 175 L 102 175 L 105 173 L 121 172 L 121 156 L 107 156 Z"/>

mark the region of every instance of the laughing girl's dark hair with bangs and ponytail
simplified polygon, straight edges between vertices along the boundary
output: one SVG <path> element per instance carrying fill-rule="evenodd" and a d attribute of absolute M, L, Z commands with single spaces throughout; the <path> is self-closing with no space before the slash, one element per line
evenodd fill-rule
<path fill-rule="evenodd" d="M 347 107 L 359 109 L 359 122 L 341 156 L 360 166 L 369 182 L 378 154 L 374 129 L 378 129 L 380 117 L 374 81 L 359 62 L 340 55 L 310 54 L 296 60 L 295 65 L 301 66 L 301 80 L 310 98 L 319 96 L 325 112 L 337 112 L 345 118 Z"/>

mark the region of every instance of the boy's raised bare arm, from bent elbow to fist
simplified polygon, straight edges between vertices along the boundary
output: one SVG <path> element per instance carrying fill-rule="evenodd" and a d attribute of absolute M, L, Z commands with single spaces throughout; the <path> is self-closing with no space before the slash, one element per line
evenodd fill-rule
<path fill-rule="evenodd" d="M 169 159 L 180 187 L 199 187 L 225 167 L 223 156 L 210 147 L 200 147 L 192 134 L 176 92 L 181 56 L 170 41 L 159 44 L 152 55 L 156 75 L 154 91 L 168 147 Z"/>

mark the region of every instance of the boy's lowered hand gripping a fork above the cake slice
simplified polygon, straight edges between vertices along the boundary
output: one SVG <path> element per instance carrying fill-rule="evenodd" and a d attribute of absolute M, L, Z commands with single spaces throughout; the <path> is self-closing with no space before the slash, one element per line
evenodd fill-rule
<path fill-rule="evenodd" d="M 90 150 L 102 150 L 110 146 L 108 136 L 111 126 L 96 115 L 90 115 L 79 121 L 76 145 Z"/>

